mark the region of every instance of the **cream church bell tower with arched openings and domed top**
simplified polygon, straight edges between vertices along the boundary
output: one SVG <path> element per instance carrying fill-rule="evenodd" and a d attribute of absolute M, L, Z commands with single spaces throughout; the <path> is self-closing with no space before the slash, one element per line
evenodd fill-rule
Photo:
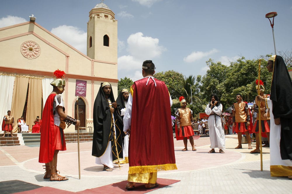
<path fill-rule="evenodd" d="M 114 12 L 103 1 L 89 12 L 87 56 L 95 60 L 117 63 L 118 21 L 114 19 Z"/>

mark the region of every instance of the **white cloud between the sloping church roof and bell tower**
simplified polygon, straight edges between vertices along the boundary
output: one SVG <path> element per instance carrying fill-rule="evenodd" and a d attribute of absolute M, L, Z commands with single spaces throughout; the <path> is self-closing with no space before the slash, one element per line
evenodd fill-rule
<path fill-rule="evenodd" d="M 87 32 L 66 25 L 53 28 L 51 32 L 86 55 Z"/>

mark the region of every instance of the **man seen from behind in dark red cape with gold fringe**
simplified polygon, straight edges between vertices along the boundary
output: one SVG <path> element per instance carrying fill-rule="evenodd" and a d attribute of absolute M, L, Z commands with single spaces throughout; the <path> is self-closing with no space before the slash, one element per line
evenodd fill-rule
<path fill-rule="evenodd" d="M 129 172 L 126 189 L 143 183 L 146 188 L 157 184 L 157 171 L 175 170 L 173 130 L 171 125 L 172 100 L 163 81 L 153 77 L 152 60 L 142 65 L 143 79 L 131 86 L 124 132 L 130 134 Z"/>

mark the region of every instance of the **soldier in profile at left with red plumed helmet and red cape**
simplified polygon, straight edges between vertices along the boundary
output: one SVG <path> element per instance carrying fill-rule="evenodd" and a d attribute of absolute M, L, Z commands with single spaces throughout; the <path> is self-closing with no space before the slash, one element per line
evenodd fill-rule
<path fill-rule="evenodd" d="M 62 94 L 65 90 L 65 72 L 56 70 L 54 81 L 51 83 L 53 91 L 48 96 L 42 115 L 41 141 L 39 146 L 39 163 L 45 163 L 44 179 L 50 181 L 66 181 L 68 178 L 57 174 L 57 160 L 59 150 L 66 150 L 64 129 L 69 125 L 80 125 L 80 121 L 65 114 Z"/>

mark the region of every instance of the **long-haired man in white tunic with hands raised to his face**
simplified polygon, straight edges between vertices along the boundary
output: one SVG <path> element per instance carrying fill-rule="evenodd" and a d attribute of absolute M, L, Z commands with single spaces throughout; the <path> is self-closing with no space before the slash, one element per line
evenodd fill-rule
<path fill-rule="evenodd" d="M 211 150 L 208 153 L 215 153 L 215 147 L 219 148 L 219 153 L 224 153 L 225 135 L 224 127 L 221 122 L 220 115 L 222 113 L 222 104 L 216 94 L 211 95 L 210 104 L 207 105 L 205 113 L 209 115 L 208 127 L 211 141 Z"/>

